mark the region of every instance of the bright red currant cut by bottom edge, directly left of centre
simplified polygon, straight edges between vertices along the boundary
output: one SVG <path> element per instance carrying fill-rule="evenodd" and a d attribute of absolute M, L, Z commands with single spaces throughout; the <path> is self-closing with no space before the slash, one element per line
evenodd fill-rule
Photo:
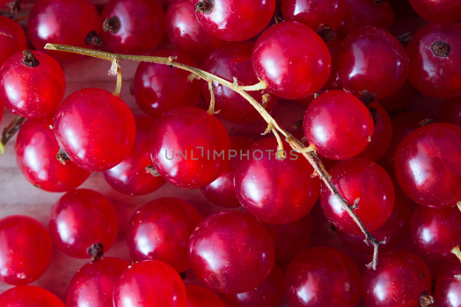
<path fill-rule="evenodd" d="M 179 274 L 155 260 L 129 266 L 118 278 L 112 298 L 114 307 L 186 306 L 186 290 Z"/>

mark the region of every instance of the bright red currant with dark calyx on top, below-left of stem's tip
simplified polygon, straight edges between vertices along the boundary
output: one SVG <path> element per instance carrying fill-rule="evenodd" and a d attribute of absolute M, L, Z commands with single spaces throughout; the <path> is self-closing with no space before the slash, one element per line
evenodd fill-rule
<path fill-rule="evenodd" d="M 65 92 L 64 71 L 49 55 L 33 51 L 40 62 L 29 67 L 22 63 L 23 52 L 6 60 L 0 70 L 0 100 L 13 114 L 37 118 L 53 114 Z"/>

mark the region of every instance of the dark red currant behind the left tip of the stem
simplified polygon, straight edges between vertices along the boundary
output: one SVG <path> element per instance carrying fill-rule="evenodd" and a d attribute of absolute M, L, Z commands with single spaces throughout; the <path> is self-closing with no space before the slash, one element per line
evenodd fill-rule
<path fill-rule="evenodd" d="M 70 52 L 50 51 L 47 43 L 93 48 L 87 40 L 90 32 L 101 32 L 96 7 L 90 0 L 39 0 L 30 10 L 27 32 L 35 49 L 46 52 L 60 62 L 81 58 Z"/>

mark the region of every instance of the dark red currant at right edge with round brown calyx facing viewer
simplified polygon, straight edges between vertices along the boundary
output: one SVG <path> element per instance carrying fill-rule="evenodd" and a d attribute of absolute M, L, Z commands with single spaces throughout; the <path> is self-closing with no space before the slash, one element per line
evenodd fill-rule
<path fill-rule="evenodd" d="M 407 46 L 413 86 L 432 98 L 460 95 L 460 45 L 459 23 L 431 23 L 420 29 Z"/>

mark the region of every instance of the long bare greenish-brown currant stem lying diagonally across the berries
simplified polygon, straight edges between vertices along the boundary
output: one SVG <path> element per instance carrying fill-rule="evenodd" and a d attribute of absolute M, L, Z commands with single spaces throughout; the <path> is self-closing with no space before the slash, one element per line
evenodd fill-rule
<path fill-rule="evenodd" d="M 94 57 L 94 58 L 101 58 L 101 59 L 111 61 L 112 63 L 112 68 L 110 70 L 110 72 L 112 72 L 111 75 L 117 75 L 118 79 L 120 78 L 119 77 L 120 72 L 119 72 L 119 67 L 118 67 L 119 60 L 151 62 L 151 63 L 157 63 L 157 64 L 165 64 L 165 65 L 177 67 L 177 68 L 191 72 L 192 74 L 195 75 L 195 78 L 203 79 L 208 82 L 208 84 L 210 85 L 209 88 L 210 88 L 210 92 L 212 93 L 212 95 L 213 95 L 212 82 L 217 82 L 221 85 L 224 85 L 225 87 L 231 88 L 236 93 L 239 93 L 243 98 L 248 100 L 248 102 L 260 113 L 263 119 L 267 122 L 267 129 L 265 133 L 268 133 L 270 131 L 274 133 L 278 141 L 278 147 L 279 147 L 278 149 L 279 150 L 283 149 L 282 139 L 280 136 L 280 134 L 282 134 L 284 138 L 286 139 L 286 141 L 290 144 L 290 146 L 297 152 L 300 152 L 307 159 L 307 161 L 314 168 L 315 172 L 319 175 L 320 179 L 325 182 L 325 185 L 328 187 L 331 193 L 333 193 L 339 199 L 339 201 L 341 202 L 341 205 L 343 206 L 343 209 L 348 212 L 348 214 L 352 217 L 352 219 L 355 221 L 355 223 L 359 226 L 359 228 L 365 235 L 364 241 L 367 244 L 373 245 L 374 247 L 373 260 L 367 265 L 367 267 L 372 268 L 374 270 L 376 269 L 376 265 L 378 263 L 379 244 L 384 243 L 384 242 L 378 242 L 372 237 L 371 233 L 363 225 L 361 220 L 358 218 L 357 214 L 355 214 L 353 207 L 349 206 L 347 201 L 341 196 L 337 188 L 331 182 L 330 175 L 328 174 L 323 163 L 320 161 L 319 157 L 317 156 L 313 146 L 309 145 L 306 147 L 305 145 L 302 144 L 300 140 L 296 139 L 293 135 L 291 135 L 291 133 L 287 132 L 285 129 L 280 127 L 278 123 L 272 118 L 272 116 L 266 111 L 263 104 L 260 104 L 248 93 L 248 91 L 260 90 L 260 89 L 266 88 L 266 85 L 264 84 L 264 82 L 261 81 L 258 84 L 243 87 L 243 86 L 238 85 L 236 78 L 234 78 L 233 82 L 227 81 L 216 75 L 210 74 L 207 71 L 176 62 L 175 57 L 162 58 L 162 57 L 150 57 L 150 56 L 124 55 L 124 54 L 116 54 L 116 53 L 111 53 L 111 52 L 92 50 L 92 49 L 76 47 L 76 46 L 67 46 L 67 45 L 50 44 L 50 43 L 46 44 L 45 49 L 78 53 L 78 54 L 83 54 L 83 55 L 87 55 L 87 56 Z M 119 86 L 120 84 L 118 82 L 115 93 L 117 93 L 120 90 Z M 213 102 L 213 99 L 212 99 L 212 102 Z M 213 103 L 210 104 L 210 109 L 208 110 L 208 113 L 210 114 L 216 113 L 214 111 Z"/>

